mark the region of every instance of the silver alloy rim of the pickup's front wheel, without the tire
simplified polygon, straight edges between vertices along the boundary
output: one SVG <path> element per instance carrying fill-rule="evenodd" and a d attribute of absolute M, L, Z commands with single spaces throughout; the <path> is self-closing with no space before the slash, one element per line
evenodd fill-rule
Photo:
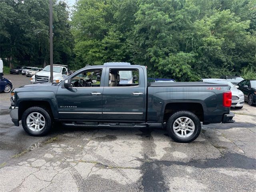
<path fill-rule="evenodd" d="M 38 112 L 32 112 L 28 115 L 26 124 L 30 130 L 38 132 L 45 126 L 44 116 Z"/>

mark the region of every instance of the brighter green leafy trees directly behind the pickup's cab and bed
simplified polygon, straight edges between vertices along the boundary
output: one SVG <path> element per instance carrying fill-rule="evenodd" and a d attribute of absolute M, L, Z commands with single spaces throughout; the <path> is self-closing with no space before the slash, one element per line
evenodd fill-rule
<path fill-rule="evenodd" d="M 80 64 L 125 61 L 179 81 L 240 74 L 256 65 L 256 0 L 78 0 Z M 253 23 L 252 23 L 253 22 Z"/>

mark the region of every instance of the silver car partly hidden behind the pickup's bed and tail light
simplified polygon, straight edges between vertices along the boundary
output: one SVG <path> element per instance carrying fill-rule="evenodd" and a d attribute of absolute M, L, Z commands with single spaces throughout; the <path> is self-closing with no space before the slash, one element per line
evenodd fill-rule
<path fill-rule="evenodd" d="M 242 109 L 244 106 L 244 94 L 242 91 L 238 90 L 230 81 L 226 79 L 201 79 L 200 82 L 210 82 L 210 83 L 220 83 L 228 84 L 230 86 L 230 91 L 232 92 L 232 104 L 231 107 L 237 109 Z"/>

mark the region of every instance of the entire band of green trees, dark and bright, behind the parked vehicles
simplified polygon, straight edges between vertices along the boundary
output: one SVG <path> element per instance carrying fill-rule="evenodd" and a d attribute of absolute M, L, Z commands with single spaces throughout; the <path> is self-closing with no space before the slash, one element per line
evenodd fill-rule
<path fill-rule="evenodd" d="M 54 63 L 148 66 L 149 77 L 196 81 L 256 66 L 256 0 L 54 0 Z M 1 57 L 49 62 L 49 4 L 0 1 Z"/>

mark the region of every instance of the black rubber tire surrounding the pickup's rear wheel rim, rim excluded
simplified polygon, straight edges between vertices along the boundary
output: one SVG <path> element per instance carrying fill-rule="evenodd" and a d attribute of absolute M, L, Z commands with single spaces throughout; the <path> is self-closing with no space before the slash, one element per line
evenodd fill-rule
<path fill-rule="evenodd" d="M 186 138 L 182 138 L 178 135 L 176 135 L 176 133 L 173 130 L 173 124 L 175 122 L 175 120 L 177 120 L 180 117 L 187 117 L 190 118 L 193 122 L 194 122 L 194 132 L 186 137 Z M 176 142 L 180 142 L 180 143 L 189 143 L 194 141 L 200 134 L 201 132 L 201 123 L 199 118 L 192 112 L 189 111 L 178 111 L 174 114 L 172 114 L 167 123 L 166 123 L 166 130 L 168 131 L 169 136 Z"/>

